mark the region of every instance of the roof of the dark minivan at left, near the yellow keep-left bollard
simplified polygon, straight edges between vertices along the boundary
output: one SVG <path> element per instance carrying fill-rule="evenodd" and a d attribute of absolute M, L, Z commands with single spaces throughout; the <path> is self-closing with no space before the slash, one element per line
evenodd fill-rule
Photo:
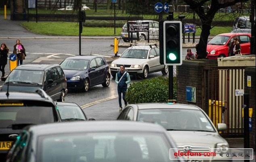
<path fill-rule="evenodd" d="M 59 66 L 58 64 L 48 64 L 48 63 L 27 63 L 17 66 L 16 70 L 36 70 L 44 71 L 45 69 Z"/>

